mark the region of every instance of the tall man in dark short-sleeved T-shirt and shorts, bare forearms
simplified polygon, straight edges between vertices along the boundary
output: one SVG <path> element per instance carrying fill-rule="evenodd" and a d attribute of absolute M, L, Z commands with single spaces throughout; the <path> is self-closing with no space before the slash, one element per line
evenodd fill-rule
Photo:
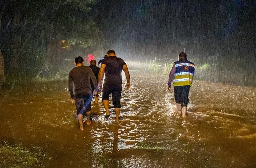
<path fill-rule="evenodd" d="M 108 51 L 108 57 L 106 57 L 100 67 L 100 72 L 98 76 L 98 88 L 100 88 L 101 80 L 105 72 L 105 80 L 102 90 L 102 103 L 106 110 L 105 118 L 110 116 L 109 112 L 109 95 L 112 94 L 112 101 L 115 108 L 116 119 L 118 122 L 120 115 L 120 99 L 122 93 L 122 70 L 125 72 L 126 77 L 126 89 L 130 87 L 130 74 L 128 67 L 124 60 L 116 57 L 114 50 Z"/>

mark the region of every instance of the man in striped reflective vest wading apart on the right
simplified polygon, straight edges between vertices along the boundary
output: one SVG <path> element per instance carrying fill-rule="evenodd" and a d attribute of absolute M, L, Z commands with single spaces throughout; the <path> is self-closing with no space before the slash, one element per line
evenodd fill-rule
<path fill-rule="evenodd" d="M 186 117 L 187 104 L 189 102 L 188 94 L 192 85 L 195 73 L 195 64 L 187 60 L 187 54 L 181 52 L 179 61 L 173 63 L 173 67 L 169 74 L 168 90 L 171 90 L 171 83 L 174 85 L 174 99 L 176 107 L 173 110 L 180 112 L 182 117 Z"/>

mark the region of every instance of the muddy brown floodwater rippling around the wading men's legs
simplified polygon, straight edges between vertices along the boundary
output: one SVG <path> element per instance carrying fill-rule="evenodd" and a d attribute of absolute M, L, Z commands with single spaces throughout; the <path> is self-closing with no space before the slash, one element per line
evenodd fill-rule
<path fill-rule="evenodd" d="M 182 119 L 168 75 L 130 74 L 123 119 L 105 121 L 103 105 L 93 103 L 85 131 L 67 81 L 1 88 L 0 140 L 43 147 L 46 167 L 256 167 L 256 88 L 195 80 Z"/>

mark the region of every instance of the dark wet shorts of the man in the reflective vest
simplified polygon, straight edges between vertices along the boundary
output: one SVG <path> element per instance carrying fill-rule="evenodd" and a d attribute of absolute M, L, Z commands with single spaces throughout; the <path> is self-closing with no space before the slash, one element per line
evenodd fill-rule
<path fill-rule="evenodd" d="M 174 99 L 176 103 L 181 104 L 182 107 L 187 107 L 187 104 L 189 102 L 189 89 L 190 86 L 174 86 Z"/>

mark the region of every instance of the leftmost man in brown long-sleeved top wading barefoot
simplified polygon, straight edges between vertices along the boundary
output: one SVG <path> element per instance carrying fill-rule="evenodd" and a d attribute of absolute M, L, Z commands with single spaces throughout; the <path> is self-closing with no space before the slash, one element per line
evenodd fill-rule
<path fill-rule="evenodd" d="M 84 60 L 81 56 L 75 58 L 75 67 L 69 72 L 69 92 L 72 101 L 75 101 L 76 115 L 79 122 L 80 130 L 83 128 L 83 113 L 87 115 L 87 125 L 91 124 L 91 100 L 89 100 L 91 95 L 91 84 L 90 79 L 95 87 L 95 92 L 97 92 L 97 79 L 93 74 L 93 71 L 88 66 L 84 66 Z M 75 88 L 75 93 L 73 91 L 73 84 Z M 85 110 L 81 114 L 81 110 L 84 107 L 85 102 L 89 100 L 90 102 L 85 107 Z"/>

